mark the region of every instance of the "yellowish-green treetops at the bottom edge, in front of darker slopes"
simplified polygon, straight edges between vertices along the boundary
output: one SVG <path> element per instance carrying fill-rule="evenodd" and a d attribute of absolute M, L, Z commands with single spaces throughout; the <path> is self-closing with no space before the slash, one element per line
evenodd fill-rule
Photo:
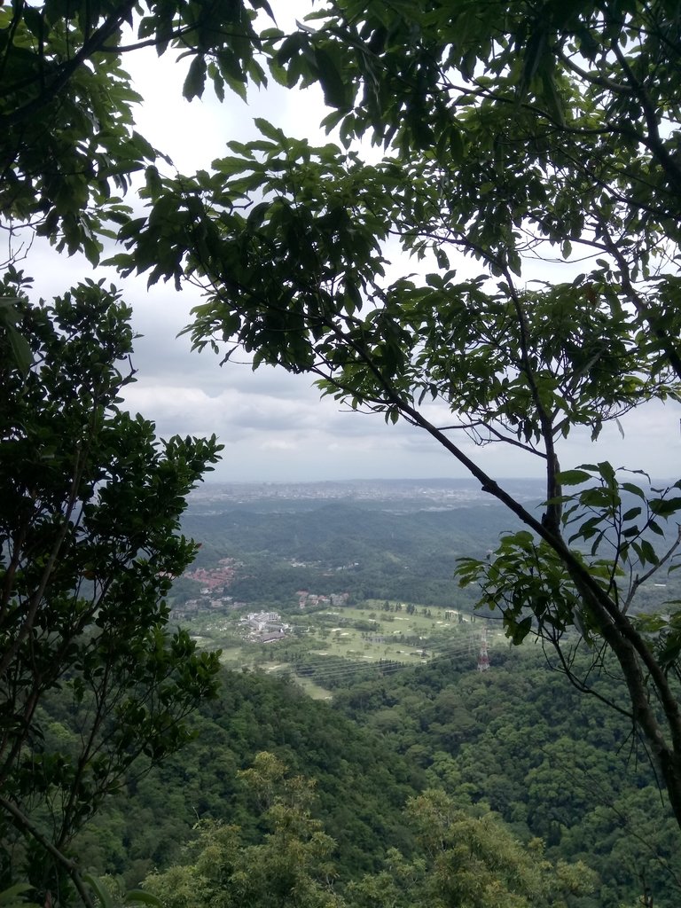
<path fill-rule="evenodd" d="M 561 892 L 589 888 L 587 868 L 554 868 L 537 846 L 523 849 L 492 814 L 471 816 L 454 808 L 444 792 L 429 791 L 408 808 L 423 854 L 408 862 L 392 849 L 379 873 L 345 887 L 339 880 L 334 892 L 336 874 L 328 863 L 334 843 L 311 819 L 310 784 L 284 773 L 276 757 L 259 754 L 242 774 L 270 830 L 261 844 L 244 846 L 237 827 L 204 824 L 192 845 L 192 863 L 148 877 L 145 889 L 166 908 L 214 903 L 525 908 L 565 904 Z"/>

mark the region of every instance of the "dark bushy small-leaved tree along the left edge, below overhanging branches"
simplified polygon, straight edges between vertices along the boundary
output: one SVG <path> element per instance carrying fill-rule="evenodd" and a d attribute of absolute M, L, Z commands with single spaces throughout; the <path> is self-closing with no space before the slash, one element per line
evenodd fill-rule
<path fill-rule="evenodd" d="M 87 281 L 31 305 L 10 268 L 31 355 L 0 333 L 0 888 L 17 876 L 65 903 L 74 834 L 120 785 L 191 736 L 217 653 L 171 632 L 165 596 L 196 547 L 185 498 L 217 459 L 212 439 L 160 442 L 119 410 L 130 310 Z M 11 295 L 10 295 L 11 294 Z"/>

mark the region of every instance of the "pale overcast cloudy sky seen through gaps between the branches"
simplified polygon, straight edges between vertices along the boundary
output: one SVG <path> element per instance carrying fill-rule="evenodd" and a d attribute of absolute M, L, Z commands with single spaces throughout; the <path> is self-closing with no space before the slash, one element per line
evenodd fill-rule
<path fill-rule="evenodd" d="M 275 11 L 284 8 L 273 4 Z M 302 15 L 301 5 L 287 0 L 289 20 Z M 253 91 L 249 104 L 227 98 L 218 104 L 208 96 L 187 104 L 182 98 L 184 66 L 155 54 L 129 58 L 135 87 L 144 97 L 138 126 L 152 143 L 169 153 L 176 167 L 191 173 L 208 167 L 225 153 L 232 139 L 256 134 L 252 117 L 264 116 L 291 134 L 323 137 L 317 123 L 323 115 L 321 93 L 284 92 L 273 86 Z M 324 141 L 328 141 L 325 137 Z M 311 381 L 284 371 L 247 366 L 220 367 L 210 351 L 190 351 L 186 336 L 177 338 L 199 301 L 197 291 L 178 293 L 171 284 L 147 291 L 144 279 L 121 281 L 76 258 L 67 259 L 35 247 L 25 271 L 35 276 L 44 297 L 63 291 L 84 276 L 111 277 L 123 286 L 133 306 L 133 321 L 143 335 L 136 342 L 137 382 L 126 391 L 132 410 L 156 422 L 159 435 L 206 435 L 215 432 L 225 446 L 214 478 L 225 481 L 290 481 L 319 479 L 391 479 L 460 477 L 465 472 L 418 430 L 403 423 L 387 426 L 380 416 L 347 412 L 333 400 L 320 400 Z M 412 263 L 410 271 L 416 270 Z M 548 276 L 548 275 L 547 275 Z M 565 277 L 561 275 L 561 278 Z M 564 469 L 578 463 L 610 459 L 617 466 L 647 469 L 656 477 L 674 476 L 679 446 L 679 408 L 648 407 L 623 422 L 624 439 L 607 426 L 597 445 L 577 433 L 561 452 Z M 448 420 L 450 421 L 450 420 Z M 538 464 L 508 447 L 467 448 L 469 456 L 497 479 L 535 475 Z"/>

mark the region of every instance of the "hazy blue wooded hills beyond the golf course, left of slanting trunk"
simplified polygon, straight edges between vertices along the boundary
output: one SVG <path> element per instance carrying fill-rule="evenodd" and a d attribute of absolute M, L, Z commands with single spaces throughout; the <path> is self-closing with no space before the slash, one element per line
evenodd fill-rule
<path fill-rule="evenodd" d="M 202 540 L 197 565 L 212 566 L 226 555 L 245 563 L 230 586 L 240 601 L 281 606 L 294 600 L 296 590 L 310 589 L 437 605 L 452 598 L 457 558 L 495 545 L 508 521 L 484 500 L 430 510 L 404 502 L 398 509 L 289 499 L 278 508 L 257 503 L 216 514 L 190 510 L 183 527 Z M 459 597 L 472 607 L 470 594 Z"/>

